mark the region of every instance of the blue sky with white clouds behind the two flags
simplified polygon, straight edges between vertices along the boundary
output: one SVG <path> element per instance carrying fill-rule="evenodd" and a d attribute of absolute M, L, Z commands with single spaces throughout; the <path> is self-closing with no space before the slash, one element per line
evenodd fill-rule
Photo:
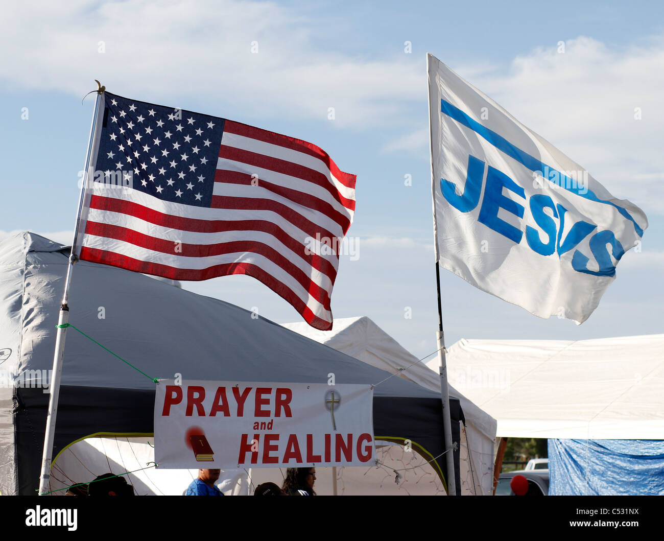
<path fill-rule="evenodd" d="M 27 229 L 70 242 L 94 107 L 92 96 L 84 104 L 81 98 L 98 78 L 121 96 L 311 141 L 357 174 L 349 235 L 357 238 L 359 257 L 341 258 L 333 314 L 368 315 L 424 356 L 436 349 L 437 325 L 425 59 L 431 52 L 614 195 L 641 206 L 650 222 L 641 252 L 623 258 L 616 281 L 579 327 L 541 320 L 443 271 L 448 347 L 462 337 L 662 332 L 661 5 L 191 1 L 157 8 L 144 0 L 78 0 L 4 10 L 0 238 Z M 258 53 L 250 52 L 252 41 Z M 405 175 L 412 186 L 404 185 Z M 258 307 L 274 321 L 299 321 L 290 305 L 250 278 L 184 287 Z"/>

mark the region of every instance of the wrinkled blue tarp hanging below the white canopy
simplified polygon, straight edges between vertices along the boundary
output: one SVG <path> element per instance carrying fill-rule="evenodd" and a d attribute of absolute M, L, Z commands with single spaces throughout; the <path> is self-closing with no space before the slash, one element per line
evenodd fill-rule
<path fill-rule="evenodd" d="M 664 441 L 549 439 L 548 493 L 664 495 Z"/>

